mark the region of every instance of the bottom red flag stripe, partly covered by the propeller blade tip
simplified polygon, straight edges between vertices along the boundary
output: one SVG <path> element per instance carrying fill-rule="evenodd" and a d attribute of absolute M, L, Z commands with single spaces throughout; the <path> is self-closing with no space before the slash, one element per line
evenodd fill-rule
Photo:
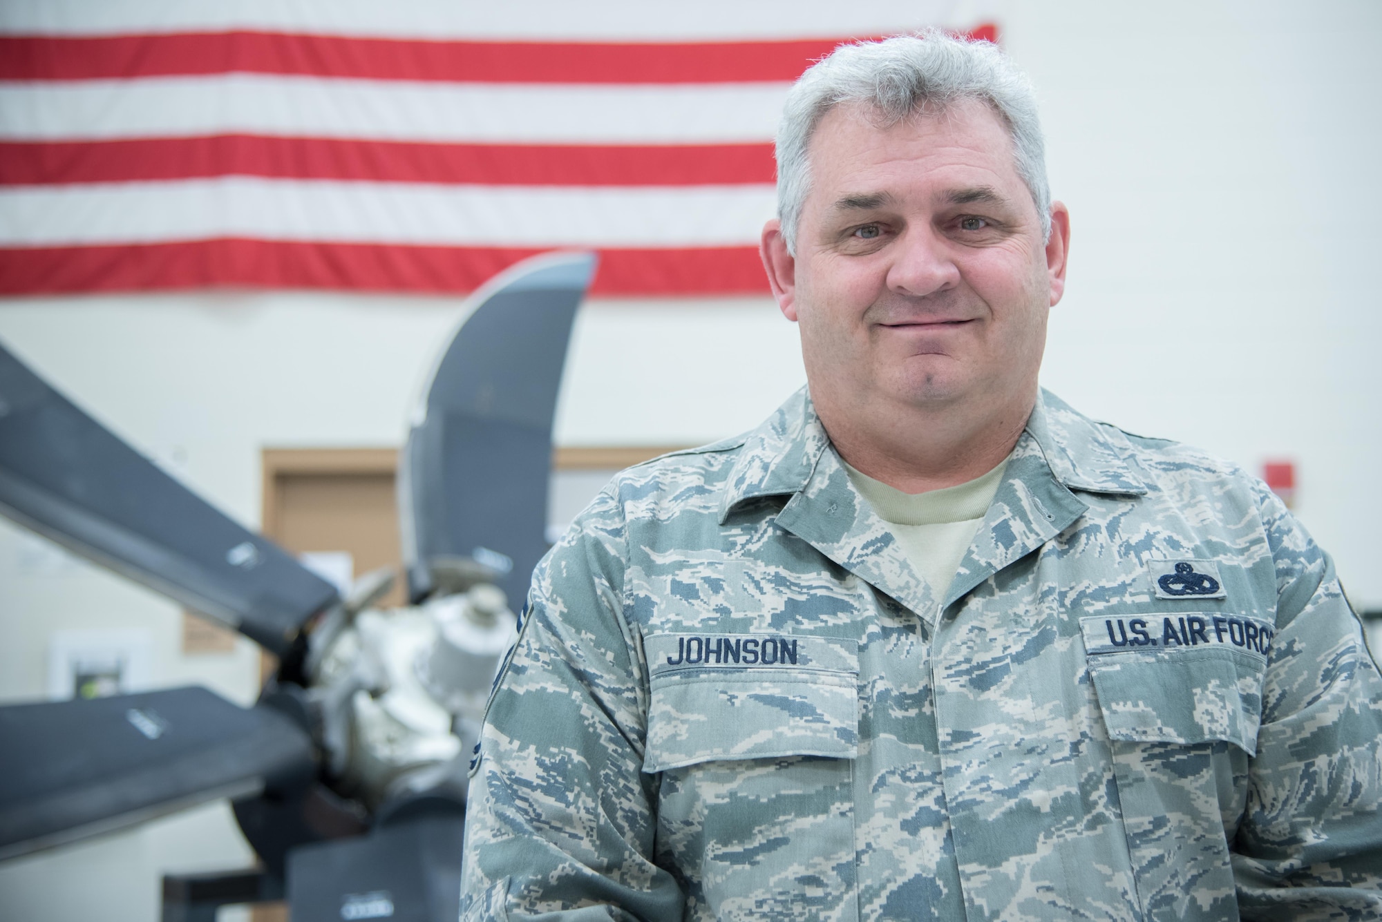
<path fill-rule="evenodd" d="M 467 293 L 543 250 L 191 240 L 0 250 L 0 295 L 171 288 Z M 767 294 L 756 247 L 601 250 L 591 294 Z"/>

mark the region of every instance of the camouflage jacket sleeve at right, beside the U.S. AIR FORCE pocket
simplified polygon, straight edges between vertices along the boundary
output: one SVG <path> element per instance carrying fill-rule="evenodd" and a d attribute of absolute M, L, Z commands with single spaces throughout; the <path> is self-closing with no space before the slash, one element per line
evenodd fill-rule
<path fill-rule="evenodd" d="M 1233 854 L 1244 919 L 1382 919 L 1382 680 L 1334 563 L 1266 489 L 1277 634 Z"/>

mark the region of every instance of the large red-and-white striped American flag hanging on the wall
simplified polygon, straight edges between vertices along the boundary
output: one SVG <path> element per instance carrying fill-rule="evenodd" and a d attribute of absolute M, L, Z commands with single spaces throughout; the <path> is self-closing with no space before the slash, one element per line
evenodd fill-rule
<path fill-rule="evenodd" d="M 737 6 L 4 3 L 0 294 L 464 293 L 572 247 L 603 295 L 766 291 L 791 81 L 854 37 L 996 28 Z"/>

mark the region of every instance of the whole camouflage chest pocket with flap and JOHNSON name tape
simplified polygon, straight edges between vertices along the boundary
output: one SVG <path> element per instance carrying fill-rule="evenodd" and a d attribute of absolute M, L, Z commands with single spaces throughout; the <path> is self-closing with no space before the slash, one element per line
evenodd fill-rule
<path fill-rule="evenodd" d="M 651 635 L 643 770 L 687 918 L 854 918 L 853 640 Z"/>

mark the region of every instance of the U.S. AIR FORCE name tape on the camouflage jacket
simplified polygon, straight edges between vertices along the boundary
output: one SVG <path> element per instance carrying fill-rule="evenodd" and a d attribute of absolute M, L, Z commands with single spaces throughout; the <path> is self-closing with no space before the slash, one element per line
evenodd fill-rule
<path fill-rule="evenodd" d="M 1229 647 L 1256 657 L 1271 651 L 1271 622 L 1247 614 L 1176 611 L 1173 614 L 1092 614 L 1079 620 L 1085 653 L 1129 650 L 1204 650 Z"/>

